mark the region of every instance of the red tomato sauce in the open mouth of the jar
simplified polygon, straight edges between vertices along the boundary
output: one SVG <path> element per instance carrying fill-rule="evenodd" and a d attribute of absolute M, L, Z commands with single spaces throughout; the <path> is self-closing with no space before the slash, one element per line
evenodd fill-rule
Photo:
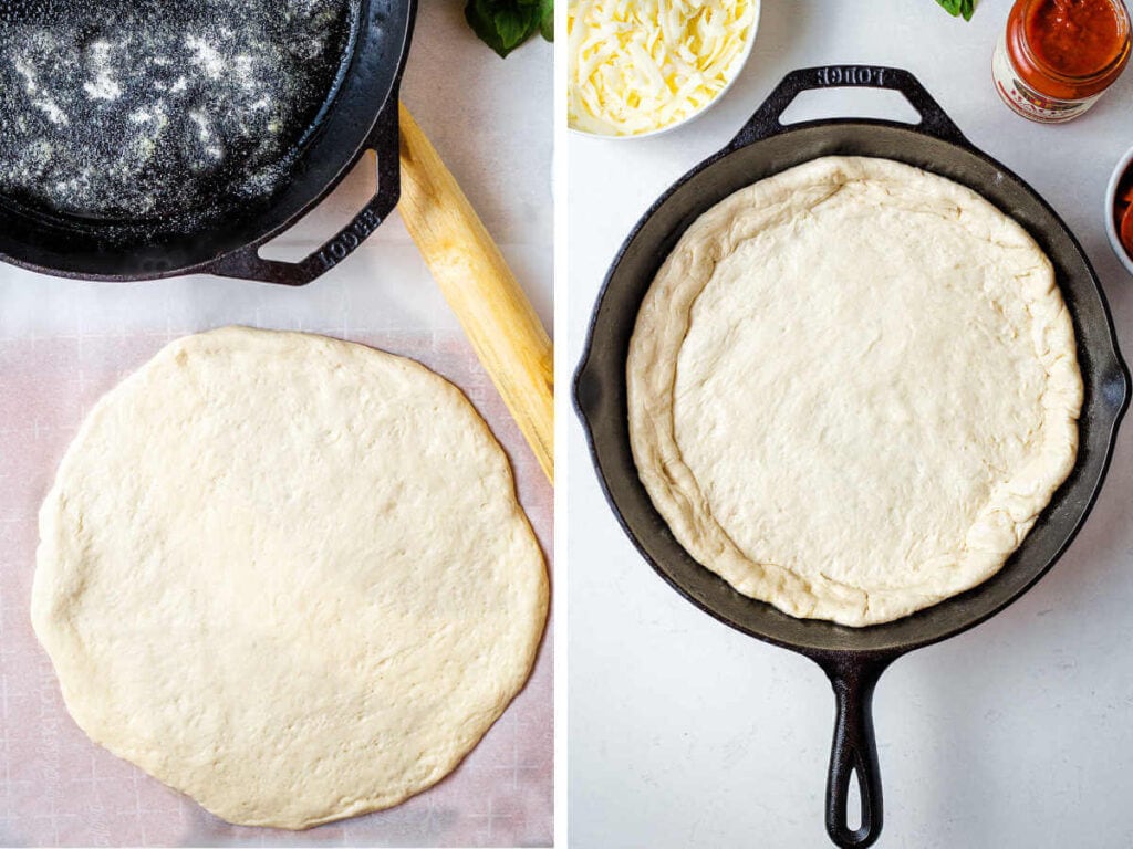
<path fill-rule="evenodd" d="M 1067 77 L 1098 74 L 1124 46 L 1111 0 L 1042 0 L 1030 12 L 1026 40 L 1036 58 Z"/>

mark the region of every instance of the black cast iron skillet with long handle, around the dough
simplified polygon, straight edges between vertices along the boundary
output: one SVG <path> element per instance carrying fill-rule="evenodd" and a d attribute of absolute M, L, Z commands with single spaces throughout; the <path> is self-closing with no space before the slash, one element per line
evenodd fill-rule
<path fill-rule="evenodd" d="M 800 92 L 828 86 L 896 89 L 920 113 L 921 121 L 915 126 L 849 119 L 790 127 L 780 123 L 780 115 Z M 1073 316 L 1085 383 L 1074 470 L 1003 571 L 962 595 L 867 628 L 794 619 L 739 594 L 693 560 L 670 533 L 638 479 L 627 426 L 630 336 L 646 290 L 678 238 L 697 216 L 738 189 L 828 154 L 884 156 L 943 174 L 979 191 L 1026 228 L 1055 265 Z M 658 574 L 721 621 L 810 658 L 829 677 L 837 719 L 826 786 L 826 830 L 841 847 L 867 847 L 881 830 L 881 784 L 871 717 L 878 677 L 905 652 L 995 615 L 1050 568 L 1098 496 L 1128 394 L 1128 370 L 1117 350 L 1105 295 L 1066 225 L 1026 183 L 976 149 L 911 74 L 867 66 L 789 74 L 727 147 L 692 169 L 654 204 L 606 276 L 574 381 L 576 404 L 606 498 Z M 855 830 L 846 821 L 853 773 L 861 794 L 861 825 Z"/>

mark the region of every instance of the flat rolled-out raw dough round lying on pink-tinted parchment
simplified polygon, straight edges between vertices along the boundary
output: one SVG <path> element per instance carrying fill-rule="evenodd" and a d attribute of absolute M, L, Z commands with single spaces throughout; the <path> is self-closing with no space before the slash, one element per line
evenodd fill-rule
<path fill-rule="evenodd" d="M 40 514 L 36 634 L 95 741 L 246 825 L 397 805 L 522 687 L 543 556 L 483 419 L 363 345 L 178 340 Z"/>

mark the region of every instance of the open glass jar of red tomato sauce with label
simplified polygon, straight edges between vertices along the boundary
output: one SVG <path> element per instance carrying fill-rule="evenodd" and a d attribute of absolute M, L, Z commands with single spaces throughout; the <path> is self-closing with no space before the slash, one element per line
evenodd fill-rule
<path fill-rule="evenodd" d="M 1016 0 L 991 61 L 996 89 L 1024 118 L 1060 123 L 1092 106 L 1130 59 L 1122 0 Z"/>

